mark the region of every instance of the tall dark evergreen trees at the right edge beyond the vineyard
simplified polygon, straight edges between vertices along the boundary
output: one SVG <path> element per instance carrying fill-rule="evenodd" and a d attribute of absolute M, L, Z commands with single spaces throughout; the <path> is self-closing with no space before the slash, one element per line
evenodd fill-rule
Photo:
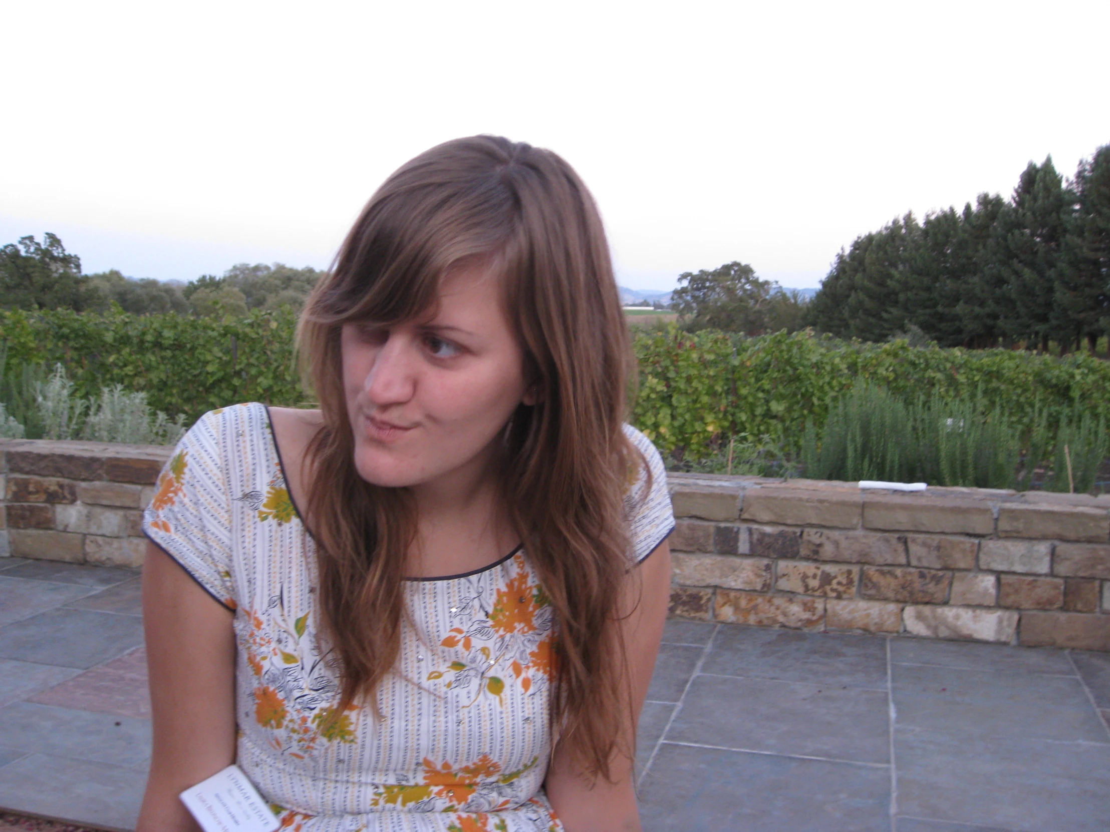
<path fill-rule="evenodd" d="M 840 251 L 805 323 L 845 338 L 1091 353 L 1110 328 L 1110 144 L 1064 181 L 1030 162 L 1010 199 L 911 213 Z"/>

